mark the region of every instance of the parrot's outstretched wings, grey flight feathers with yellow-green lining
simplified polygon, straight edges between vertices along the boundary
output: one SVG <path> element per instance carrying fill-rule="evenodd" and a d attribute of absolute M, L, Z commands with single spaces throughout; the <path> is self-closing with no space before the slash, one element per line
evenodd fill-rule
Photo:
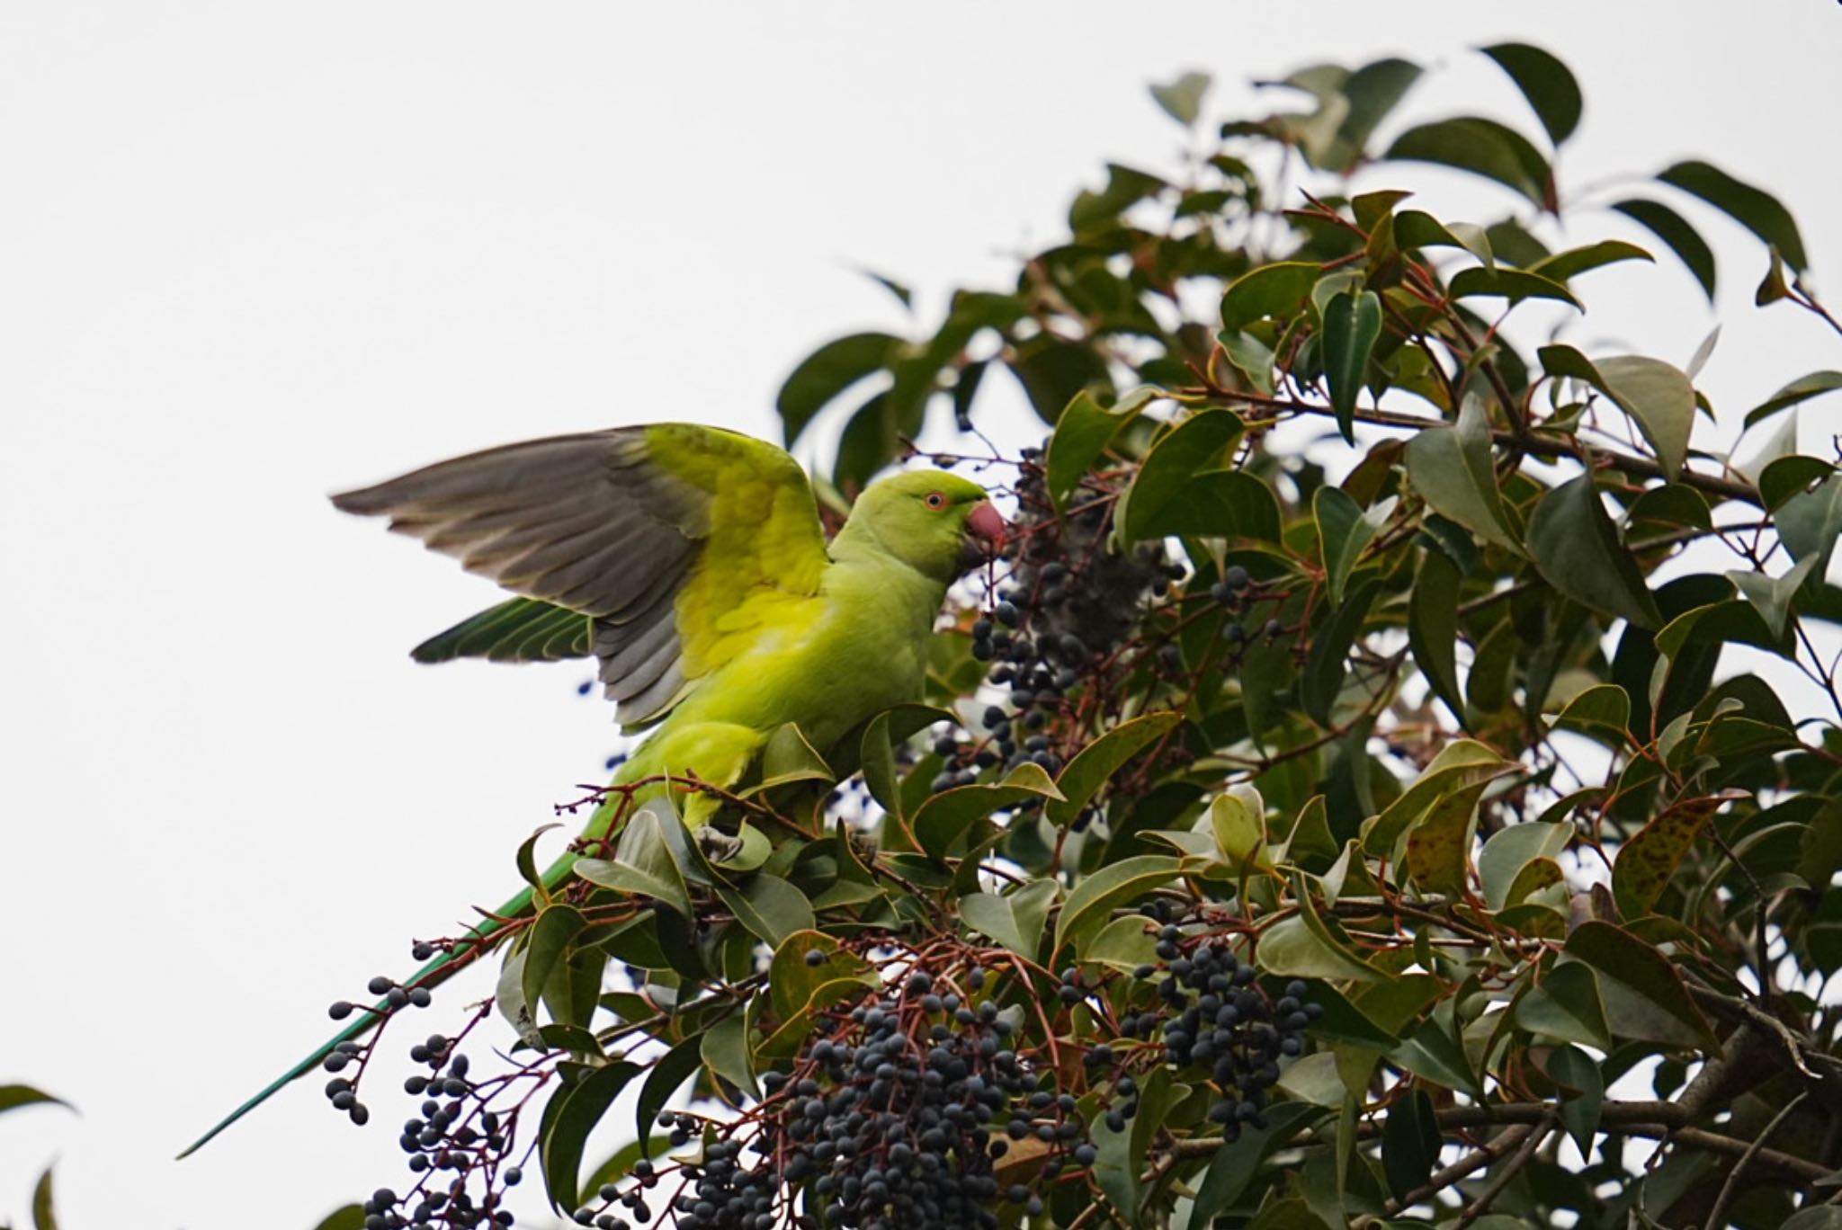
<path fill-rule="evenodd" d="M 385 516 L 521 595 L 418 646 L 418 659 L 593 650 L 626 725 L 665 716 L 775 604 L 818 593 L 827 563 L 799 464 L 691 424 L 508 444 L 333 505 Z"/>

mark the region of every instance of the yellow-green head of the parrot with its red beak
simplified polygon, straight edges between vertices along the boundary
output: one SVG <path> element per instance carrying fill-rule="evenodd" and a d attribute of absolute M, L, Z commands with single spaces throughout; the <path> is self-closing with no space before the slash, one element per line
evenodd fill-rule
<path fill-rule="evenodd" d="M 985 488 L 945 470 L 910 470 L 869 484 L 851 508 L 849 528 L 943 582 L 989 558 L 1004 540 L 1004 517 Z"/>

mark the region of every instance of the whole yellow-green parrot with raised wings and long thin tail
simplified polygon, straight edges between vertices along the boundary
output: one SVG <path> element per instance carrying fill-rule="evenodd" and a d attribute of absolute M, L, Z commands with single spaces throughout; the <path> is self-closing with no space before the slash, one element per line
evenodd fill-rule
<path fill-rule="evenodd" d="M 460 560 L 519 598 L 416 648 L 420 661 L 534 661 L 588 652 L 628 731 L 650 735 L 613 784 L 665 775 L 735 784 L 787 722 L 814 748 L 921 698 L 927 643 L 956 576 L 987 558 L 1004 519 L 976 482 L 915 470 L 873 482 L 829 543 L 812 484 L 783 449 L 691 424 L 613 427 L 508 444 L 333 497 Z M 634 801 L 667 790 L 634 792 Z M 687 799 L 696 825 L 713 803 Z M 604 805 L 584 838 L 608 834 Z M 543 875 L 556 888 L 573 854 Z M 405 980 L 431 987 L 532 908 L 525 889 L 453 952 Z M 328 1039 L 179 1156 L 193 1153 L 341 1042 Z"/>

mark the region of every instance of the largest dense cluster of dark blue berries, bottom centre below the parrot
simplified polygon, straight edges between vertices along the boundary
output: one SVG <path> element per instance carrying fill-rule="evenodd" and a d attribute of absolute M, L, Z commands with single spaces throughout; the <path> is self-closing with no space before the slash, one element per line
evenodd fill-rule
<path fill-rule="evenodd" d="M 1041 1195 L 1004 1180 L 1006 1156 L 1032 1142 L 1032 1173 L 1054 1180 L 1070 1162 L 1092 1164 L 1094 1147 L 1074 1096 L 1019 1051 L 1011 1020 L 967 1000 L 985 980 L 976 965 L 915 969 L 825 1013 L 792 1070 L 766 1073 L 757 1107 L 709 1125 L 693 1160 L 635 1169 L 628 1191 L 604 1188 L 577 1223 L 623 1230 L 617 1208 L 645 1221 L 643 1191 L 661 1178 L 678 1180 L 667 1215 L 685 1230 L 995 1230 L 1004 1202 L 1041 1213 Z M 667 1121 L 680 1145 L 698 1127 L 678 1112 Z"/>

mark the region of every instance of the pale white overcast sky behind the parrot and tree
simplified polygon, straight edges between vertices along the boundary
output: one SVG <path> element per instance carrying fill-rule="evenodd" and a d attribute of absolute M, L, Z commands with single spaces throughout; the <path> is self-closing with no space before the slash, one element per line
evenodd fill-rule
<path fill-rule="evenodd" d="M 1822 0 L 0 6 L 0 1083 L 81 1108 L 0 1116 L 0 1223 L 52 1156 L 66 1230 L 306 1230 L 403 1186 L 383 1083 L 370 1131 L 308 1081 L 169 1158 L 600 775 L 586 672 L 414 667 L 495 591 L 326 492 L 612 424 L 772 435 L 799 355 L 908 328 L 857 265 L 934 319 L 1107 158 L 1170 166 L 1148 81 L 1214 72 L 1243 114 L 1253 77 L 1404 53 L 1402 116 L 1534 133 L 1468 52 L 1507 37 L 1586 87 L 1564 191 L 1708 157 L 1794 210 L 1818 284 L 1842 261 Z M 1663 258 L 1590 274 L 1569 337 L 1684 363 L 1719 320 L 1731 424 L 1842 344 L 1754 309 L 1759 245 L 1696 217 L 1715 311 Z"/>

